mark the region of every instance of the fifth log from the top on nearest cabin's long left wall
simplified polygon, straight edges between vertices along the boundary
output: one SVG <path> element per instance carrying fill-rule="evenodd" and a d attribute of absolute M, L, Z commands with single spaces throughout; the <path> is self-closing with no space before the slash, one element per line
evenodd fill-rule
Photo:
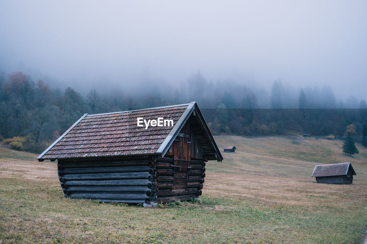
<path fill-rule="evenodd" d="M 64 185 L 65 186 L 65 185 Z M 67 185 L 66 185 L 67 186 Z M 67 192 L 146 192 L 148 188 L 145 186 L 68 186 Z"/>

